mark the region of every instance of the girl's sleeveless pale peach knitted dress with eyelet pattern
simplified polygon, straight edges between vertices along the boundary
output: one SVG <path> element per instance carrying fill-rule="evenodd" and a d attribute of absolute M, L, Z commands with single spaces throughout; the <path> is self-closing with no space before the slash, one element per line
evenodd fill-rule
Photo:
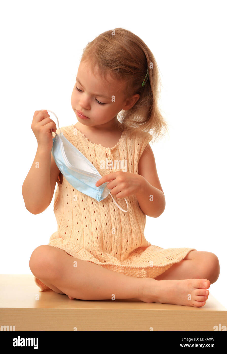
<path fill-rule="evenodd" d="M 138 162 L 148 143 L 137 135 L 130 137 L 123 131 L 112 148 L 94 144 L 74 125 L 62 127 L 64 136 L 103 177 L 111 172 L 138 173 Z M 60 130 L 57 129 L 57 134 Z M 101 178 L 101 177 L 100 177 Z M 124 210 L 124 198 L 113 198 Z M 156 278 L 174 263 L 180 262 L 194 248 L 163 249 L 151 245 L 143 234 L 146 215 L 140 209 L 135 195 L 126 196 L 128 212 L 120 210 L 111 195 L 97 201 L 76 190 L 63 176 L 57 179 L 54 213 L 57 231 L 50 236 L 50 246 L 68 255 L 92 262 L 114 272 L 137 278 Z M 39 291 L 49 290 L 34 276 Z"/>

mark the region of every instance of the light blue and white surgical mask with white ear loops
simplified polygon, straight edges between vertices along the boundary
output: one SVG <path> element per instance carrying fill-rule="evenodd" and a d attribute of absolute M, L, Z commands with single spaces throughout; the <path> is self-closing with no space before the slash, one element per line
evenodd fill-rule
<path fill-rule="evenodd" d="M 55 115 L 56 114 L 50 110 L 47 110 Z M 57 118 L 57 126 L 59 127 L 59 121 Z M 96 199 L 97 201 L 105 199 L 108 194 L 111 195 L 110 190 L 106 187 L 108 182 L 103 183 L 99 187 L 96 186 L 96 182 L 102 178 L 100 173 L 92 165 L 92 163 L 78 150 L 73 144 L 71 144 L 68 139 L 63 135 L 59 127 L 60 133 L 55 133 L 53 138 L 52 155 L 56 162 L 57 167 L 61 171 L 62 175 L 67 179 L 67 181 L 81 193 L 89 195 L 90 197 Z M 124 212 L 114 200 L 111 198 Z M 128 202 L 124 198 L 128 208 Z"/>

